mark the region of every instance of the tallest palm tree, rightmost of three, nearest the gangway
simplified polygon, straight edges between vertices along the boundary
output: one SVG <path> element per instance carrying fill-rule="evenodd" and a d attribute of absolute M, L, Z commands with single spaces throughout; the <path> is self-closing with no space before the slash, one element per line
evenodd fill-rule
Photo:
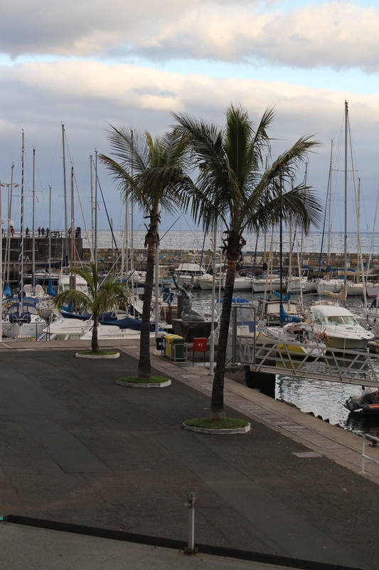
<path fill-rule="evenodd" d="M 270 153 L 267 129 L 274 119 L 268 108 L 259 125 L 250 121 L 247 111 L 230 105 L 225 128 L 198 120 L 185 113 L 173 113 L 178 128 L 188 139 L 193 165 L 198 167 L 196 184 L 189 189 L 192 215 L 205 231 L 221 220 L 226 228 L 223 239 L 228 257 L 223 294 L 223 311 L 218 337 L 218 356 L 213 379 L 210 420 L 223 420 L 225 356 L 236 265 L 245 245 L 243 232 L 269 227 L 292 214 L 307 231 L 319 224 L 321 207 L 314 193 L 304 185 L 283 192 L 282 182 L 306 160 L 307 152 L 319 145 L 312 136 L 303 136 L 271 167 L 263 167 L 264 153 Z"/>

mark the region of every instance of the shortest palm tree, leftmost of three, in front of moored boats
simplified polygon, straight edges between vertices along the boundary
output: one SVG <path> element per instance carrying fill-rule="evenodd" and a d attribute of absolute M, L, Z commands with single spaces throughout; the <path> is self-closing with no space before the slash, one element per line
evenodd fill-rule
<path fill-rule="evenodd" d="M 75 305 L 81 313 L 92 314 L 91 348 L 92 352 L 97 352 L 99 350 L 97 342 L 99 315 L 114 309 L 114 307 L 118 307 L 120 304 L 124 305 L 127 303 L 127 286 L 117 283 L 114 280 L 114 276 L 99 284 L 99 274 L 97 273 L 97 265 L 95 263 L 90 264 L 90 269 L 75 267 L 71 271 L 85 279 L 88 286 L 88 294 L 84 293 L 84 291 L 78 291 L 78 289 L 68 289 L 58 293 L 54 297 L 53 302 L 58 309 L 61 309 L 63 304 L 70 303 Z"/>

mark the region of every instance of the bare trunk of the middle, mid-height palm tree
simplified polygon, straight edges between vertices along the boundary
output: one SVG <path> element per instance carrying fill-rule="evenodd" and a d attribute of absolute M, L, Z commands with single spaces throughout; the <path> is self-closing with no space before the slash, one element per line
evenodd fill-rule
<path fill-rule="evenodd" d="M 146 380 L 151 376 L 150 362 L 150 311 L 154 281 L 155 243 L 147 244 L 146 280 L 144 288 L 144 306 L 142 309 L 141 338 L 139 343 L 138 377 Z M 158 294 L 157 294 L 158 295 Z"/>

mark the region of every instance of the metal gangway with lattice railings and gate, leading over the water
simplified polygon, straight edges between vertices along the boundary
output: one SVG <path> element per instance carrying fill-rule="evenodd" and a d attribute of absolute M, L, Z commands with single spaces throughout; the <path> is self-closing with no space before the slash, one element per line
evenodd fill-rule
<path fill-rule="evenodd" d="M 256 373 L 280 374 L 307 380 L 328 380 L 345 384 L 379 386 L 379 356 L 365 351 L 328 349 L 319 356 L 299 355 L 283 341 L 256 336 L 255 328 L 247 330 L 241 321 L 242 309 L 232 307 L 230 335 L 233 365 L 243 364 Z M 247 309 L 247 308 L 246 308 Z M 245 309 L 245 310 L 246 310 Z M 250 308 L 251 311 L 251 308 Z M 255 311 L 254 311 L 255 312 Z M 231 346 L 230 346 L 231 345 Z"/>

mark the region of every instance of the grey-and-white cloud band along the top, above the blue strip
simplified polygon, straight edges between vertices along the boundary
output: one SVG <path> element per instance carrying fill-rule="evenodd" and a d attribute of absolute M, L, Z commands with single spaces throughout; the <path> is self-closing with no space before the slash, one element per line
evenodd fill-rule
<path fill-rule="evenodd" d="M 0 49 L 13 58 L 193 58 L 378 71 L 379 10 L 374 6 L 351 1 L 292 9 L 281 5 L 149 0 L 125 6 L 122 0 L 29 0 L 3 10 Z"/>

